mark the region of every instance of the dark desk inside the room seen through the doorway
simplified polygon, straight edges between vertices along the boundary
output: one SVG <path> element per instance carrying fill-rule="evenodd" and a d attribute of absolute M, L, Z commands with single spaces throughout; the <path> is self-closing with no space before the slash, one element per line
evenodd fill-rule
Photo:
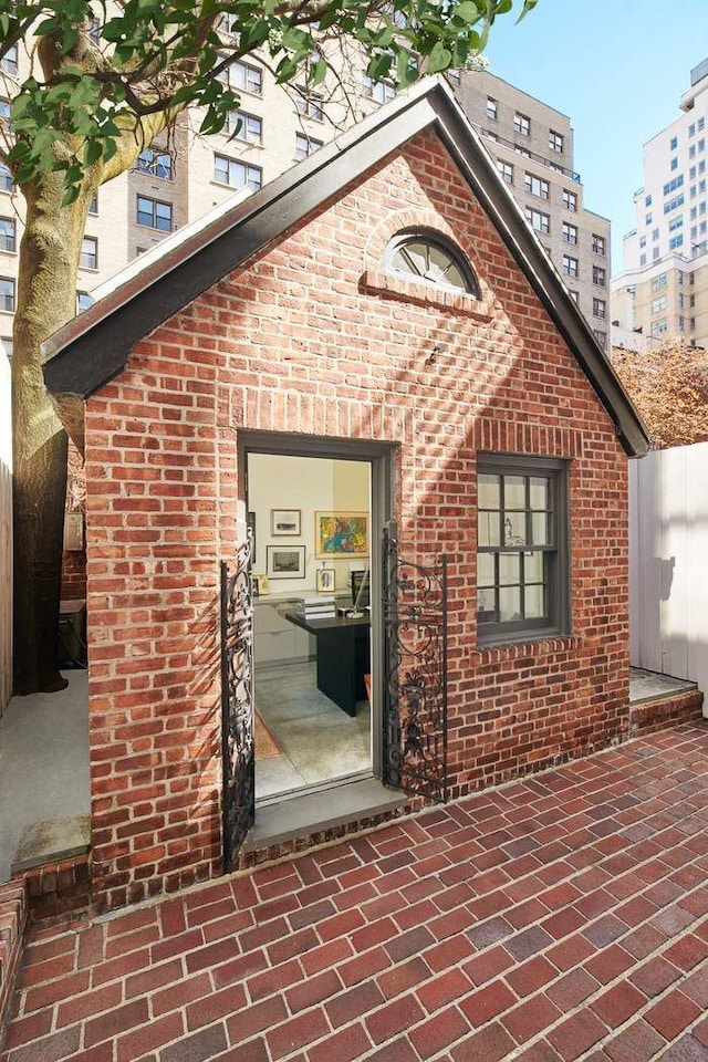
<path fill-rule="evenodd" d="M 364 675 L 371 671 L 368 613 L 357 620 L 306 620 L 287 612 L 285 620 L 317 639 L 317 689 L 347 716 L 355 716 L 356 701 L 366 700 Z"/>

